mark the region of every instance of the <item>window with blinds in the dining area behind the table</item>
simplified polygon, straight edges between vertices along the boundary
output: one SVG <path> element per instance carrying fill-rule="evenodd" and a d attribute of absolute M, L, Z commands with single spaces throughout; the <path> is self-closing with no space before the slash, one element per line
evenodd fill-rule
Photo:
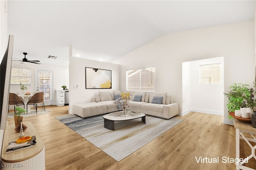
<path fill-rule="evenodd" d="M 28 68 L 15 68 L 12 67 L 11 71 L 11 84 L 25 84 L 30 85 L 31 71 Z"/>

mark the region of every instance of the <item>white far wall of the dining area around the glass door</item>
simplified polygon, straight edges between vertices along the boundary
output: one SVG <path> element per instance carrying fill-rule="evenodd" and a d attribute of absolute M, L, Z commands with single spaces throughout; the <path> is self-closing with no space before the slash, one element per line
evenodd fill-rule
<path fill-rule="evenodd" d="M 54 93 L 55 89 L 62 89 L 62 85 L 69 84 L 69 76 L 68 76 L 68 67 L 59 66 L 59 65 L 48 65 L 48 64 L 34 64 L 34 63 L 23 63 L 21 64 L 20 61 L 12 61 L 12 67 L 18 68 L 30 68 L 31 69 L 31 85 L 25 85 L 28 89 L 24 90 L 24 93 L 30 92 L 33 93 L 36 91 L 36 70 L 47 70 L 53 71 L 53 96 L 52 99 L 54 100 Z M 20 90 L 20 85 L 10 85 L 10 92 L 18 92 L 22 93 Z M 54 103 L 54 101 L 53 101 Z M 10 109 L 14 109 L 10 107 Z"/>

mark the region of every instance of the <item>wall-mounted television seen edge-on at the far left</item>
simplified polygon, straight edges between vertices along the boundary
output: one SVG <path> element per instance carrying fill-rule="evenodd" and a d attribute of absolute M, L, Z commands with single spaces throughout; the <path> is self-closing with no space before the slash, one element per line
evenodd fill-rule
<path fill-rule="evenodd" d="M 14 36 L 10 35 L 4 57 L 0 65 L 0 129 L 6 129 L 7 123 L 13 40 Z"/>

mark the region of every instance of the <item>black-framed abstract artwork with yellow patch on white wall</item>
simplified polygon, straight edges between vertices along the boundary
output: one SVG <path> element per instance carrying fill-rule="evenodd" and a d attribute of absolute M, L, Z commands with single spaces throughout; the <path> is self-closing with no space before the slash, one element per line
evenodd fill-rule
<path fill-rule="evenodd" d="M 111 70 L 85 67 L 86 89 L 112 89 Z"/>

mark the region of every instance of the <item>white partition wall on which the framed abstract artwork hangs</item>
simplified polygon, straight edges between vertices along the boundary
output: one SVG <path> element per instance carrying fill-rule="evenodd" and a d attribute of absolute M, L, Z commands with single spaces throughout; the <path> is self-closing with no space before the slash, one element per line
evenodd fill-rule
<path fill-rule="evenodd" d="M 85 89 L 85 67 L 98 69 L 107 69 L 112 71 L 112 89 Z M 69 113 L 72 113 L 72 107 L 76 103 L 91 102 L 99 91 L 117 91 L 120 90 L 120 65 L 106 63 L 79 57 L 69 57 L 70 74 L 70 101 Z M 74 89 L 78 85 L 78 89 Z"/>

